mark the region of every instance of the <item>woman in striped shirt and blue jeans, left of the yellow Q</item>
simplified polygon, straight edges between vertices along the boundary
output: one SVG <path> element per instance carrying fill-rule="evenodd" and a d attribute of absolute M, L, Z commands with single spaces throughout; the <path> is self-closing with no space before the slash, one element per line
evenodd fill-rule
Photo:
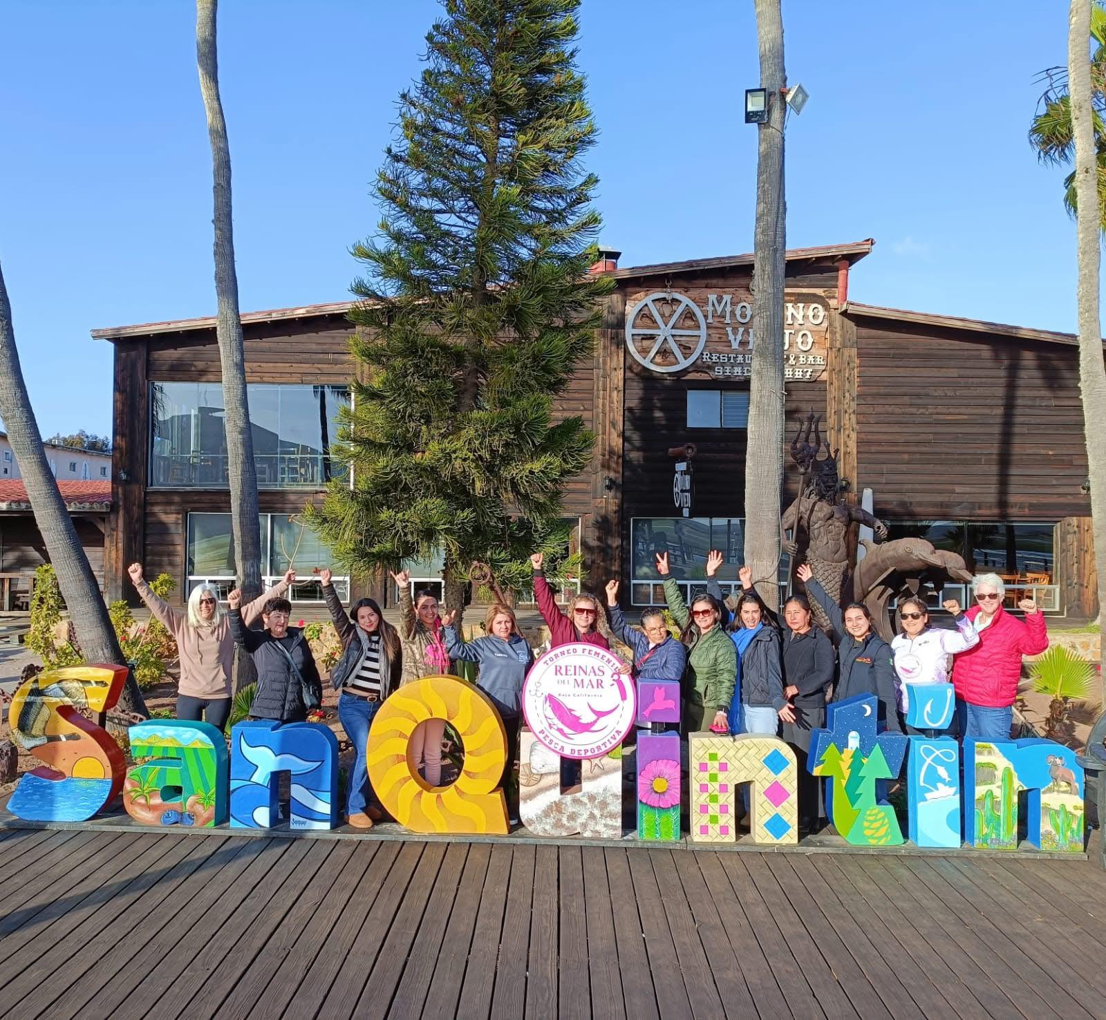
<path fill-rule="evenodd" d="M 384 699 L 399 686 L 399 634 L 384 620 L 372 599 L 361 599 L 346 615 L 331 583 L 331 572 L 320 571 L 323 599 L 331 612 L 334 629 L 342 641 L 342 658 L 331 670 L 331 683 L 341 690 L 338 719 L 357 752 L 346 784 L 346 816 L 356 829 L 371 829 L 379 808 L 366 803 L 368 792 L 368 731 Z"/>

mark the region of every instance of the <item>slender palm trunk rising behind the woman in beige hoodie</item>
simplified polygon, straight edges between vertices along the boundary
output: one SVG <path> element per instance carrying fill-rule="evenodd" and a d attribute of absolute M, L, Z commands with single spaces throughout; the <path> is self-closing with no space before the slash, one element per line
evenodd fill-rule
<path fill-rule="evenodd" d="M 230 206 L 230 145 L 219 98 L 216 42 L 218 0 L 196 0 L 196 63 L 207 113 L 215 177 L 215 290 L 218 300 L 216 336 L 222 365 L 222 400 L 227 425 L 227 466 L 230 520 L 234 538 L 238 583 L 244 597 L 261 593 L 261 530 L 258 523 L 258 471 L 253 462 L 253 433 L 246 396 L 246 350 L 238 311 L 234 236 Z"/>

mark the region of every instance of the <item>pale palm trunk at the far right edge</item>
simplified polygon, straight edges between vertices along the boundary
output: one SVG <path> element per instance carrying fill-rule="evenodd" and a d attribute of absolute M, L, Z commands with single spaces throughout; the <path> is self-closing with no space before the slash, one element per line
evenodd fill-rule
<path fill-rule="evenodd" d="M 1098 313 L 1099 208 L 1094 111 L 1091 104 L 1091 0 L 1072 0 L 1067 29 L 1067 81 L 1075 137 L 1076 243 L 1079 323 L 1079 393 L 1083 398 L 1091 520 L 1095 542 L 1098 599 L 1106 597 L 1106 447 L 1093 443 L 1106 420 L 1106 366 Z M 1106 649 L 1106 642 L 1104 642 Z M 1106 655 L 1099 653 L 1106 666 Z M 1106 668 L 1102 677 L 1106 684 Z M 1106 695 L 1106 688 L 1103 694 Z"/>

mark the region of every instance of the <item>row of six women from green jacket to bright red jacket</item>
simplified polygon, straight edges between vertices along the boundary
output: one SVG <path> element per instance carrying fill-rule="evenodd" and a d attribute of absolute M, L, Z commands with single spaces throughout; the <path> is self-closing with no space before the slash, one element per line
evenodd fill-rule
<path fill-rule="evenodd" d="M 821 784 L 807 771 L 806 754 L 812 731 L 825 726 L 827 701 L 875 695 L 886 729 L 917 733 L 906 724 L 908 685 L 951 681 L 959 735 L 1009 739 L 1022 656 L 1048 645 L 1044 615 L 1031 599 L 1019 603 L 1024 620 L 1003 608 L 1005 586 L 998 574 L 974 579 L 977 605 L 967 613 L 954 600 L 945 601 L 956 629 L 932 626 L 921 599 L 900 600 L 901 633 L 888 645 L 866 605 L 842 610 L 805 564 L 796 573 L 806 595 L 786 600 L 782 625 L 745 566 L 738 572 L 742 594 L 731 613 L 714 579 L 722 563 L 720 552 L 708 554 L 707 593 L 688 608 L 668 554 L 657 555 L 668 608 L 688 646 L 684 730 L 776 736 L 782 726 L 799 759 L 801 825 L 807 830 L 823 813 Z M 814 625 L 810 600 L 828 618 L 830 634 Z"/>

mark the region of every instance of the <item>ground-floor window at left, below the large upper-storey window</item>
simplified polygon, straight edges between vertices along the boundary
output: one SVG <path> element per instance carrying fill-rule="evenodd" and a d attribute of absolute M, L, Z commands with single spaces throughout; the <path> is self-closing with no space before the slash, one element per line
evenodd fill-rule
<path fill-rule="evenodd" d="M 262 585 L 270 587 L 294 568 L 298 576 L 289 597 L 292 602 L 322 602 L 323 592 L 314 571 L 331 562 L 330 550 L 319 535 L 286 513 L 262 513 Z M 189 513 L 187 544 L 188 592 L 202 582 L 219 589 L 222 597 L 237 584 L 234 540 L 229 513 Z M 343 602 L 349 599 L 349 577 L 334 576 Z"/>

